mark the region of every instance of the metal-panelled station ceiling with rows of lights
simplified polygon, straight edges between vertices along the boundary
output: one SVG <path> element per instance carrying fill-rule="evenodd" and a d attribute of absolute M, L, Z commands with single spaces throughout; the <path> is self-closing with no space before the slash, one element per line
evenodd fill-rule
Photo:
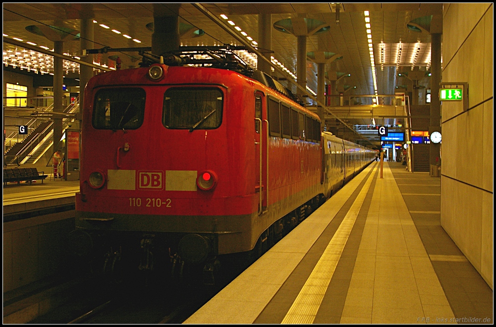
<path fill-rule="evenodd" d="M 3 3 L 3 34 L 16 37 L 23 42 L 31 42 L 37 46 L 53 48 L 53 42 L 46 37 L 34 34 L 29 26 L 59 26 L 79 33 L 80 19 L 92 18 L 95 21 L 94 48 L 111 47 L 150 47 L 152 30 L 147 24 L 153 22 L 153 12 L 157 5 L 167 10 L 168 3 Z M 368 43 L 368 32 L 365 22 L 366 10 L 370 13 L 373 55 L 375 61 L 377 93 L 394 94 L 397 85 L 407 84 L 399 71 L 409 71 L 417 48 L 420 51 L 416 65 L 425 70 L 430 61 L 431 36 L 428 32 L 412 31 L 407 28 L 411 20 L 429 16 L 434 10 L 439 11 L 439 4 L 434 3 L 341 3 L 339 24 L 336 23 L 336 4 L 334 3 L 203 3 L 211 13 L 220 17 L 228 16 L 241 31 L 254 41 L 258 39 L 258 14 L 272 14 L 272 24 L 286 18 L 304 17 L 325 22 L 329 30 L 308 37 L 307 51 L 326 51 L 342 55 L 341 60 L 326 65 L 326 70 L 335 69 L 338 73 L 351 74 L 338 81 L 349 94 L 374 94 L 371 57 Z M 441 7 L 442 8 L 442 7 Z M 181 42 L 185 46 L 236 44 L 237 41 L 215 22 L 205 16 L 191 3 L 182 3 L 180 23 L 192 25 L 205 32 L 204 35 L 185 33 Z M 106 25 L 109 28 L 100 26 Z M 27 29 L 26 29 L 27 28 Z M 113 31 L 114 30 L 114 31 Z M 119 34 L 115 31 L 120 32 Z M 130 38 L 124 37 L 130 36 Z M 241 36 L 241 34 L 240 34 Z M 140 41 L 138 43 L 137 41 Z M 383 42 L 383 68 L 381 69 L 380 49 Z M 402 44 L 399 59 L 399 71 L 396 69 L 397 50 Z M 4 49 L 8 47 L 3 44 Z M 272 49 L 274 58 L 288 70 L 296 74 L 297 38 L 272 29 Z M 70 55 L 80 53 L 77 38 L 67 38 L 64 52 Z M 101 65 L 114 65 L 109 56 L 116 54 L 96 55 L 95 61 Z M 137 66 L 140 56 L 137 53 L 118 54 L 123 60 L 123 68 Z M 317 91 L 317 65 L 307 62 L 308 86 Z M 399 79 L 399 80 L 398 80 Z M 356 87 L 356 88 L 355 88 Z M 296 91 L 296 87 L 293 88 Z M 356 122 L 360 124 L 360 121 Z M 366 122 L 361 122 L 362 124 Z M 370 123 L 369 123 L 370 124 Z"/>

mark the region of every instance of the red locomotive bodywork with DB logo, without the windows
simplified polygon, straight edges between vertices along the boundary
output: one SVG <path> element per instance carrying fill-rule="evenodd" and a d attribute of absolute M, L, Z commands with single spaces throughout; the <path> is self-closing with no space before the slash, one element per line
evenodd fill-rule
<path fill-rule="evenodd" d="M 263 165 L 268 155 L 268 194 L 261 187 L 268 203 L 264 204 L 266 212 L 258 214 L 255 92 L 261 92 L 264 101 L 271 95 L 318 119 L 315 114 L 237 72 L 160 66 L 164 76 L 159 81 L 148 78 L 148 68 L 137 68 L 106 72 L 88 82 L 76 226 L 87 230 L 212 233 L 218 237 L 214 252 L 240 252 L 253 248 L 274 221 L 322 193 L 320 143 L 267 136 L 270 122 L 265 120 L 264 103 L 260 143 L 266 138 L 268 144 L 259 149 L 264 152 Z M 123 88 L 142 89 L 146 94 L 141 126 L 96 129 L 98 92 Z M 166 128 L 164 94 L 177 88 L 217 90 L 222 95 L 217 98 L 222 98 L 220 125 L 193 131 Z M 215 188 L 209 191 L 198 189 L 196 184 L 205 171 L 213 172 L 216 178 Z M 101 188 L 90 185 L 93 172 L 103 175 Z"/>

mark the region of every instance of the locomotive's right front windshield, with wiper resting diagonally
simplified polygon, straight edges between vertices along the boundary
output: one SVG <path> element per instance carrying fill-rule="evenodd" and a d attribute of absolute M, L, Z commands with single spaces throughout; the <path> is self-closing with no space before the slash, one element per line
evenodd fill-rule
<path fill-rule="evenodd" d="M 171 87 L 164 93 L 162 124 L 168 129 L 213 130 L 222 123 L 223 94 L 214 87 Z"/>

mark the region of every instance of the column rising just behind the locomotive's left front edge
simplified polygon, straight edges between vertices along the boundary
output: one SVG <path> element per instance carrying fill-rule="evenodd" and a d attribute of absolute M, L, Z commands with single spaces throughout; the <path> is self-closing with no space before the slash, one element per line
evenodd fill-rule
<path fill-rule="evenodd" d="M 81 19 L 81 31 L 79 38 L 79 47 L 81 51 L 83 49 L 93 49 L 93 39 L 94 39 L 94 27 L 93 19 Z M 81 61 L 88 64 L 93 64 L 93 55 L 88 55 L 86 57 L 81 57 Z M 86 83 L 93 77 L 93 68 L 80 65 L 79 66 L 79 113 L 81 121 L 83 119 L 83 106 L 84 106 L 84 88 Z M 79 127 L 82 124 L 79 122 Z"/>

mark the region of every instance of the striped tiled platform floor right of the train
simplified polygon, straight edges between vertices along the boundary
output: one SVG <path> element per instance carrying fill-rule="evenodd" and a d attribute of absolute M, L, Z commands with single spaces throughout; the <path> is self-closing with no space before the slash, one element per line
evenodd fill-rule
<path fill-rule="evenodd" d="M 493 324 L 440 226 L 440 178 L 369 165 L 185 324 Z"/>

